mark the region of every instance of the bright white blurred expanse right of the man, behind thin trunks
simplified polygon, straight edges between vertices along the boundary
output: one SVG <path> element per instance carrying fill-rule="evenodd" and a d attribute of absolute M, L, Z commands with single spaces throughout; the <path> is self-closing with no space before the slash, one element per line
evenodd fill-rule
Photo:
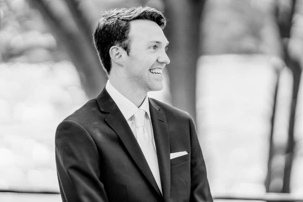
<path fill-rule="evenodd" d="M 276 73 L 270 55 L 208 55 L 198 60 L 197 128 L 214 194 L 265 193 L 270 120 Z M 276 59 L 275 59 L 276 60 Z M 285 145 L 292 76 L 283 68 L 276 106 L 274 142 Z M 303 88 L 296 112 L 296 157 L 291 193 L 302 195 Z M 275 155 L 270 190 L 281 191 L 284 148 Z"/>

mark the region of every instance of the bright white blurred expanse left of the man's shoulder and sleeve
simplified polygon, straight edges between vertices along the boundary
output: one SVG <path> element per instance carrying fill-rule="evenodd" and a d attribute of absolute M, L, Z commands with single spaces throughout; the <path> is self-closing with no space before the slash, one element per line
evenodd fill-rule
<path fill-rule="evenodd" d="M 0 189 L 58 190 L 55 129 L 87 100 L 75 67 L 2 63 L 0 72 Z"/>

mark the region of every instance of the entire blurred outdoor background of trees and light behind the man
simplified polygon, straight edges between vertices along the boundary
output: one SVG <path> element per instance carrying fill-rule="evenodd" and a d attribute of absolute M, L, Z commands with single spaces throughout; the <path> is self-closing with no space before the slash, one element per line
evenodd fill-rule
<path fill-rule="evenodd" d="M 168 19 L 149 96 L 195 119 L 212 194 L 303 198 L 303 0 L 1 0 L 0 201 L 61 201 L 14 191 L 58 193 L 56 127 L 107 81 L 100 12 L 139 5 Z"/>

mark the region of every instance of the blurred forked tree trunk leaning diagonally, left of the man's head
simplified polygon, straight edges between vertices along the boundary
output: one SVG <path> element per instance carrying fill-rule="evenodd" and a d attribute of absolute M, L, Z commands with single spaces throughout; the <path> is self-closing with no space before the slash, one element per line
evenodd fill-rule
<path fill-rule="evenodd" d="M 92 30 L 88 30 L 88 27 L 91 24 L 88 24 L 83 11 L 80 11 L 78 2 L 67 0 L 74 19 L 66 15 L 64 9 L 57 8 L 57 1 L 28 0 L 28 2 L 40 11 L 57 42 L 62 43 L 66 49 L 88 97 L 95 97 L 107 79 L 92 43 L 92 34 L 89 36 Z M 66 12 L 69 13 L 68 9 Z"/>

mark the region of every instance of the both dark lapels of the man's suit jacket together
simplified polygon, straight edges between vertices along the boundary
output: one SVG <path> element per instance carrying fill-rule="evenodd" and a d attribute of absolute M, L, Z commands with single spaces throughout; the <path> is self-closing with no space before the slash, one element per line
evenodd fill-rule
<path fill-rule="evenodd" d="M 153 177 L 151 170 L 145 160 L 145 157 L 140 149 L 138 142 L 132 134 L 127 121 L 123 117 L 123 114 L 119 110 L 116 103 L 110 97 L 105 88 L 96 98 L 97 103 L 101 111 L 109 113 L 105 118 L 105 121 L 112 127 L 116 134 L 120 137 L 126 150 L 135 161 L 138 170 L 144 174 L 146 179 L 154 187 L 155 191 L 162 195 L 158 185 Z M 155 144 L 157 149 L 159 173 L 161 179 L 161 186 L 163 197 L 165 201 L 169 200 L 170 196 L 170 145 L 168 124 L 166 117 L 161 108 L 151 98 L 149 100 L 149 110 L 151 115 L 151 123 L 155 138 Z"/>

